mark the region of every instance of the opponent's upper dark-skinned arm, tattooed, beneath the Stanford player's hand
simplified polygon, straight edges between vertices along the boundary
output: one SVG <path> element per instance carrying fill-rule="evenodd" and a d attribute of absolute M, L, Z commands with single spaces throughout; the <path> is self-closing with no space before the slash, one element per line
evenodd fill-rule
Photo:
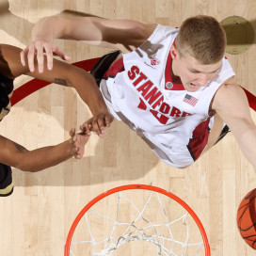
<path fill-rule="evenodd" d="M 35 72 L 30 72 L 27 65 L 23 66 L 19 61 L 20 48 L 11 45 L 0 45 L 0 47 L 1 53 L 8 63 L 6 65 L 8 65 L 10 78 L 27 74 L 44 81 L 75 88 L 81 99 L 88 104 L 93 115 L 91 130 L 99 136 L 103 136 L 104 127 L 109 127 L 114 118 L 109 113 L 100 89 L 89 72 L 56 59 L 54 59 L 55 65 L 52 71 L 45 69 L 44 72 L 38 72 L 38 69 L 36 69 Z M 38 64 L 35 63 L 35 65 L 37 67 Z M 46 61 L 44 61 L 44 65 L 46 65 Z M 88 127 L 85 127 L 83 131 L 89 134 Z"/>

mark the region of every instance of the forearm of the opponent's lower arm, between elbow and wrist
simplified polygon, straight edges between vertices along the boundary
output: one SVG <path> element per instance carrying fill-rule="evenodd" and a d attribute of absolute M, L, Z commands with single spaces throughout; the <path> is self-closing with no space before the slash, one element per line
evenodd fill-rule
<path fill-rule="evenodd" d="M 56 166 L 68 160 L 75 154 L 74 147 L 70 140 L 56 146 L 40 148 L 34 151 L 23 151 L 20 153 L 20 160 L 15 168 L 24 171 L 36 172 L 45 168 Z"/>

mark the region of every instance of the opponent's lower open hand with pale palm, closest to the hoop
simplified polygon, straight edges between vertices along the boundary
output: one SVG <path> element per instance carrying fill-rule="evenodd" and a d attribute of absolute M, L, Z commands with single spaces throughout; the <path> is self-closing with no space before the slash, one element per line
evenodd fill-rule
<path fill-rule="evenodd" d="M 81 159 L 84 156 L 85 153 L 85 145 L 88 142 L 89 135 L 88 134 L 77 134 L 75 133 L 75 129 L 72 128 L 70 131 L 70 142 L 72 144 L 72 147 L 74 149 L 74 157 L 76 159 Z"/>

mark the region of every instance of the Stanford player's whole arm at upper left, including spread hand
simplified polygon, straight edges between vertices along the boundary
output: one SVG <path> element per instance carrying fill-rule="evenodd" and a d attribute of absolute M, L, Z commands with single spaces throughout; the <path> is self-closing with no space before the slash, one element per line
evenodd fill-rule
<path fill-rule="evenodd" d="M 28 62 L 34 71 L 34 56 L 37 55 L 40 72 L 43 71 L 43 53 L 47 56 L 47 67 L 53 67 L 53 56 L 69 60 L 59 50 L 55 39 L 83 40 L 90 45 L 131 51 L 149 38 L 155 24 L 142 24 L 131 20 L 106 20 L 96 17 L 57 17 L 40 20 L 32 30 L 32 42 L 21 53 L 23 65 Z"/>

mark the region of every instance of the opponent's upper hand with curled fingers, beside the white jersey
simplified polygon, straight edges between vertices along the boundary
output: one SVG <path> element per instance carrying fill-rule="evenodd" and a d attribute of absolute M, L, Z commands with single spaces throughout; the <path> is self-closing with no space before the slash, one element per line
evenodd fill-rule
<path fill-rule="evenodd" d="M 110 127 L 110 123 L 114 120 L 114 117 L 108 113 L 100 113 L 91 119 L 87 120 L 80 126 L 80 130 L 83 134 L 90 135 L 90 132 L 95 132 L 98 136 L 103 136 L 105 127 Z"/>

